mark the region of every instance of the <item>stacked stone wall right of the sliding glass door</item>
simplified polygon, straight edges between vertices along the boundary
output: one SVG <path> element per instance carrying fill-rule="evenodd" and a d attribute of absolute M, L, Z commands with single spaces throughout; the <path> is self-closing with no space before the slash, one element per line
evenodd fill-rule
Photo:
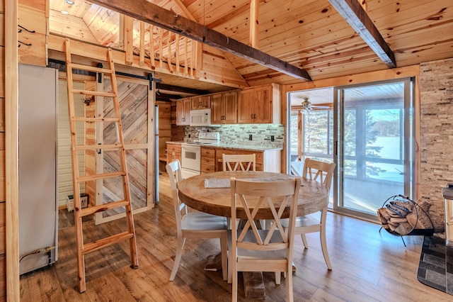
<path fill-rule="evenodd" d="M 442 186 L 453 182 L 453 58 L 420 64 L 421 198 L 445 228 Z"/>

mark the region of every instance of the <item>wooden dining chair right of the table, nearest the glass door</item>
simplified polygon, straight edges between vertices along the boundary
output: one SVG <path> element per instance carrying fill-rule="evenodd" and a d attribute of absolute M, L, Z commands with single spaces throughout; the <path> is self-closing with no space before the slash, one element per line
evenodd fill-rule
<path fill-rule="evenodd" d="M 314 179 L 320 181 L 321 184 L 326 186 L 329 190 L 331 189 L 333 171 L 335 170 L 335 163 L 320 162 L 319 160 L 311 160 L 306 158 L 304 162 L 304 169 L 302 177 L 306 179 Z M 321 240 L 321 249 L 323 251 L 324 260 L 326 261 L 328 269 L 332 269 L 331 259 L 328 257 L 327 243 L 326 243 L 326 217 L 327 217 L 326 205 L 321 210 L 320 218 L 316 218 L 316 214 L 310 214 L 306 216 L 300 216 L 296 218 L 296 227 L 294 229 L 294 235 L 300 234 L 304 247 L 308 248 L 308 242 L 306 241 L 305 234 L 319 232 Z M 289 220 L 283 220 L 282 225 L 285 228 L 289 227 Z"/>

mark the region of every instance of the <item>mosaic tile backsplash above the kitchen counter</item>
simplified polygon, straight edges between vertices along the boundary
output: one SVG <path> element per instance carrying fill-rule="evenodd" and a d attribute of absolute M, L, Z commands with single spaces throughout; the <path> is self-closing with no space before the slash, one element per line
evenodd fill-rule
<path fill-rule="evenodd" d="M 185 127 L 185 140 L 197 140 L 200 132 L 219 132 L 222 144 L 283 147 L 285 126 L 275 124 L 236 124 L 219 127 Z M 251 139 L 249 140 L 251 135 Z M 271 135 L 274 141 L 271 141 Z"/>

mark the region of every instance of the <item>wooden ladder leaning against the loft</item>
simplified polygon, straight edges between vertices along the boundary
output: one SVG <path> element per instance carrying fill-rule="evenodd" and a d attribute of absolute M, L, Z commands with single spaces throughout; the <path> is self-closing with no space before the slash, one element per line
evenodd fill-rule
<path fill-rule="evenodd" d="M 85 284 L 85 255 L 88 252 L 93 252 L 113 245 L 122 240 L 129 240 L 130 244 L 130 257 L 131 267 L 137 268 L 139 266 L 137 258 L 137 243 L 135 241 L 135 230 L 134 230 L 134 218 L 132 216 L 132 206 L 130 200 L 130 189 L 129 189 L 129 177 L 127 176 L 126 167 L 126 153 L 125 145 L 122 135 L 122 125 L 120 118 L 120 103 L 118 101 L 117 82 L 115 77 L 115 66 L 113 65 L 113 57 L 110 48 L 107 49 L 107 62 L 109 69 L 91 67 L 86 65 L 74 64 L 71 62 L 71 49 L 69 45 L 69 39 L 66 39 L 66 69 L 67 69 L 67 88 L 68 88 L 68 102 L 69 102 L 69 127 L 71 130 L 71 158 L 72 158 L 72 177 L 74 181 L 74 216 L 76 224 L 77 234 L 77 269 L 79 273 L 79 291 L 83 293 L 86 290 Z M 72 69 L 81 69 L 88 72 L 97 72 L 102 74 L 109 74 L 111 79 L 111 92 L 103 91 L 87 91 L 74 89 L 72 80 Z M 74 110 L 74 94 L 82 94 L 85 96 L 105 96 L 110 97 L 113 100 L 114 117 L 113 118 L 86 118 L 85 116 L 79 117 L 75 115 Z M 117 125 L 117 143 L 116 144 L 105 144 L 105 145 L 77 145 L 76 142 L 76 122 L 95 122 L 95 123 L 116 123 Z M 79 175 L 79 162 L 77 159 L 77 152 L 86 152 L 88 150 L 105 150 L 105 151 L 116 151 L 119 152 L 119 167 L 117 172 L 109 172 L 103 174 L 93 175 Z M 122 201 L 111 201 L 109 203 L 101 204 L 99 206 L 89 206 L 88 208 L 81 208 L 80 199 L 80 184 L 86 181 L 98 181 L 101 179 L 107 179 L 109 177 L 122 177 L 122 186 L 124 191 L 124 200 Z M 82 218 L 94 213 L 101 211 L 108 211 L 114 208 L 125 207 L 126 220 L 127 220 L 127 231 L 105 237 L 101 240 L 96 240 L 84 244 L 84 234 L 82 230 Z"/>

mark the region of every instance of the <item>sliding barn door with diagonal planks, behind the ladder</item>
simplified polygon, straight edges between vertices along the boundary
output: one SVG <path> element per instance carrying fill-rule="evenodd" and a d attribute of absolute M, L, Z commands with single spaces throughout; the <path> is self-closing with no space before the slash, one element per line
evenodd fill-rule
<path fill-rule="evenodd" d="M 110 79 L 104 79 L 102 87 L 110 91 Z M 127 172 L 130 181 L 130 194 L 134 213 L 146 211 L 154 205 L 154 102 L 149 91 L 149 82 L 144 80 L 117 77 L 118 99 L 122 119 L 123 137 L 126 149 Z M 96 104 L 105 117 L 113 116 L 113 106 L 107 97 Z M 152 110 L 151 110 L 152 109 Z M 96 140 L 103 144 L 117 142 L 115 123 L 103 123 L 96 129 Z M 117 152 L 98 152 L 96 169 L 98 172 L 116 172 L 119 166 Z M 96 186 L 96 204 L 118 201 L 124 198 L 120 177 L 103 179 Z M 102 182 L 102 184 L 101 184 Z M 125 209 L 96 213 L 96 224 L 125 217 Z"/>

